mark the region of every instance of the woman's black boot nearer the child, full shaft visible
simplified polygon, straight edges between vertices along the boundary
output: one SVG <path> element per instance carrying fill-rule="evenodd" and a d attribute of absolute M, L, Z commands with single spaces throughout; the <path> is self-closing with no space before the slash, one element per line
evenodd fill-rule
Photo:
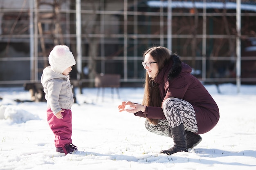
<path fill-rule="evenodd" d="M 171 135 L 173 137 L 174 146 L 168 150 L 162 150 L 161 153 L 172 155 L 176 152 L 188 152 L 188 149 L 186 148 L 186 133 L 183 124 L 171 128 Z"/>

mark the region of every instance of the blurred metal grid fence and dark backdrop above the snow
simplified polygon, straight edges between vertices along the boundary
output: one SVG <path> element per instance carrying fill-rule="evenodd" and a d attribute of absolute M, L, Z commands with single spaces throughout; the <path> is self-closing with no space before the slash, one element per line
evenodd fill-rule
<path fill-rule="evenodd" d="M 0 0 L 0 86 L 40 84 L 58 44 L 74 54 L 79 87 L 100 73 L 143 86 L 150 46 L 180 55 L 204 84 L 256 84 L 256 1 Z"/>

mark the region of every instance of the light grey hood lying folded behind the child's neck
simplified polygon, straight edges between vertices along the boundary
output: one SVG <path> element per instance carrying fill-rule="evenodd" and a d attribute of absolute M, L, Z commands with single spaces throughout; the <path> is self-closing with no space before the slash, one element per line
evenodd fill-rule
<path fill-rule="evenodd" d="M 69 75 L 63 75 L 63 74 L 57 73 L 57 72 L 53 71 L 50 66 L 48 66 L 43 70 L 43 75 L 41 77 L 41 83 L 44 86 L 49 80 L 59 79 L 59 78 L 68 80 Z"/>

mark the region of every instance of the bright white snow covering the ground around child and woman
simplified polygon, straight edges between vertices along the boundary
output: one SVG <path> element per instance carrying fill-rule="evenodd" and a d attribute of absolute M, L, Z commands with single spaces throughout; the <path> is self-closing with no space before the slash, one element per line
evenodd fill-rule
<path fill-rule="evenodd" d="M 173 145 L 169 137 L 148 132 L 144 118 L 119 113 L 121 101 L 140 103 L 143 88 L 119 88 L 121 99 L 105 89 L 83 88 L 72 106 L 72 143 L 79 149 L 61 156 L 46 119 L 45 102 L 28 102 L 22 87 L 0 88 L 0 170 L 255 170 L 256 86 L 205 85 L 220 108 L 220 121 L 189 152 L 160 154 Z M 76 89 L 78 92 L 78 89 Z M 17 100 L 25 102 L 16 102 Z M 27 101 L 27 102 L 26 102 Z"/>

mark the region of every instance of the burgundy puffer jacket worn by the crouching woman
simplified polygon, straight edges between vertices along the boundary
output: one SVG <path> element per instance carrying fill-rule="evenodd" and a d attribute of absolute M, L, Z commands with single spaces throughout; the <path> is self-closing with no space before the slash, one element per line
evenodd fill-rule
<path fill-rule="evenodd" d="M 195 109 L 198 134 L 206 133 L 218 123 L 219 108 L 202 83 L 191 75 L 191 67 L 183 62 L 181 67 L 177 71 L 172 70 L 172 74 L 171 68 L 177 67 L 175 62 L 171 61 L 164 66 L 154 81 L 159 86 L 163 101 L 166 98 L 175 97 L 191 103 Z M 135 113 L 135 116 L 166 119 L 161 107 L 151 106 L 147 106 L 144 113 L 141 111 Z"/>

